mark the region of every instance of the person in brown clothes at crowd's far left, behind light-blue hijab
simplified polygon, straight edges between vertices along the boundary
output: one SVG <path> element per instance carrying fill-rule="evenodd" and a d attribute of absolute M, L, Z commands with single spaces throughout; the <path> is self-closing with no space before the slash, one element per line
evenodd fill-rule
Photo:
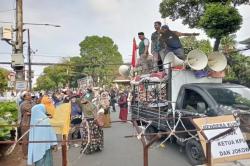
<path fill-rule="evenodd" d="M 21 94 L 21 98 L 23 99 L 23 102 L 20 105 L 20 111 L 21 111 L 20 128 L 21 128 L 21 135 L 23 135 L 30 128 L 29 125 L 30 125 L 31 108 L 35 105 L 35 103 L 32 101 L 31 94 L 28 91 L 24 91 Z M 28 155 L 28 143 L 27 143 L 28 140 L 29 140 L 29 135 L 26 134 L 22 139 L 23 141 L 22 151 L 24 159 L 27 159 Z"/>

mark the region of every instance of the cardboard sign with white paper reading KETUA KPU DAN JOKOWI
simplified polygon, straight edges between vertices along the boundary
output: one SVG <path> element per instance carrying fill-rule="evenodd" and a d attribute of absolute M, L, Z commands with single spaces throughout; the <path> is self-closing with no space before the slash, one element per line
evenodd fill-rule
<path fill-rule="evenodd" d="M 212 141 L 211 154 L 214 163 L 250 158 L 249 147 L 240 128 L 236 127 L 238 124 L 233 115 L 197 118 L 193 119 L 193 122 L 196 124 L 198 129 L 201 130 L 198 135 L 205 156 L 207 140 L 202 136 L 202 133 L 207 137 L 207 139 L 211 139 L 212 137 L 229 130 L 231 127 L 235 128 L 233 132 Z"/>

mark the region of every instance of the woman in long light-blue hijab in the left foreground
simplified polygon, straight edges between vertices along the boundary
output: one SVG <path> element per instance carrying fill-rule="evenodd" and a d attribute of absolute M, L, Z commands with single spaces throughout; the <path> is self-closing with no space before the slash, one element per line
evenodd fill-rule
<path fill-rule="evenodd" d="M 37 104 L 31 109 L 30 125 L 50 125 L 43 104 Z M 29 132 L 29 141 L 54 141 L 48 143 L 29 143 L 28 165 L 53 166 L 52 146 L 57 141 L 52 127 L 32 127 Z"/>

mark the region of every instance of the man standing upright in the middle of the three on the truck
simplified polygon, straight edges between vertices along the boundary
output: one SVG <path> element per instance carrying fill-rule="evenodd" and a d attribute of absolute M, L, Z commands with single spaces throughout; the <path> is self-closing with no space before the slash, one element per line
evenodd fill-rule
<path fill-rule="evenodd" d="M 158 70 L 158 61 L 160 59 L 160 43 L 159 43 L 159 39 L 161 37 L 161 22 L 160 21 L 156 21 L 154 22 L 154 28 L 155 28 L 155 32 L 152 33 L 151 35 L 151 53 L 153 55 L 153 67 L 154 67 L 154 71 Z"/>

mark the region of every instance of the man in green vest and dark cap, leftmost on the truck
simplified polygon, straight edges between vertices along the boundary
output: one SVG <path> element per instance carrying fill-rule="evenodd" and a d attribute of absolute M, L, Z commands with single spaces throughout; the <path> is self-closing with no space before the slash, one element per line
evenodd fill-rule
<path fill-rule="evenodd" d="M 138 33 L 138 37 L 141 40 L 139 43 L 139 64 L 142 66 L 142 72 L 146 73 L 149 70 L 150 64 L 148 63 L 148 48 L 149 48 L 149 40 L 144 36 L 143 32 Z"/>

